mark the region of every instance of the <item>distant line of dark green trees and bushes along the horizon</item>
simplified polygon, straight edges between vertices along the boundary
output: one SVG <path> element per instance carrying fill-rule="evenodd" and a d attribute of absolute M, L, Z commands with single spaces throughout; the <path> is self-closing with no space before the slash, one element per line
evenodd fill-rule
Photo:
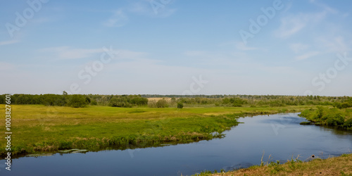
<path fill-rule="evenodd" d="M 148 101 L 147 98 L 163 98 Z M 13 94 L 14 104 L 44 104 L 46 106 L 84 107 L 88 105 L 132 107 L 149 106 L 151 108 L 182 107 L 191 105 L 212 105 L 232 107 L 280 107 L 320 105 L 337 108 L 352 107 L 349 96 L 277 96 L 277 95 L 100 95 L 100 94 Z M 0 95 L 0 103 L 5 103 L 5 94 Z M 177 105 L 178 104 L 178 105 Z"/>

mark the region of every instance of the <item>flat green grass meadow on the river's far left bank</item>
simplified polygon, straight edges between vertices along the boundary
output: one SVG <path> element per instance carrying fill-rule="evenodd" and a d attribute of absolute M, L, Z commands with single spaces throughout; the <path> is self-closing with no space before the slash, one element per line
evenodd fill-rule
<path fill-rule="evenodd" d="M 177 109 L 12 105 L 11 149 L 13 155 L 20 155 L 61 149 L 97 151 L 197 142 L 222 137 L 223 131 L 238 124 L 239 116 L 299 112 L 308 108 L 311 106 Z M 4 105 L 0 113 L 5 114 Z M 5 127 L 5 120 L 0 121 L 0 126 Z M 4 137 L 0 138 L 1 156 L 6 153 L 5 146 Z"/>

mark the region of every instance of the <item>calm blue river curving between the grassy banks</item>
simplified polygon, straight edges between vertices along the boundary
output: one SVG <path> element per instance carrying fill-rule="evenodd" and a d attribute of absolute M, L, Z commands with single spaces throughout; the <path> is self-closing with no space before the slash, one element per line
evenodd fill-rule
<path fill-rule="evenodd" d="M 314 125 L 298 113 L 240 118 L 223 139 L 125 151 L 55 154 L 14 159 L 11 171 L 0 163 L 0 175 L 192 175 L 201 170 L 246 168 L 263 161 L 287 161 L 299 154 L 320 158 L 351 153 L 352 132 Z"/>

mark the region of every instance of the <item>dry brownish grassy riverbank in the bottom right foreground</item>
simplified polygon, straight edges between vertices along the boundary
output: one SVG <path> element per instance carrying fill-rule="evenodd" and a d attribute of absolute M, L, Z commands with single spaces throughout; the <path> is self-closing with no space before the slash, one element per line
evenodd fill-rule
<path fill-rule="evenodd" d="M 196 175 L 230 176 L 230 175 L 352 175 L 352 154 L 343 154 L 339 157 L 301 162 L 291 160 L 284 164 L 268 163 L 263 166 L 254 165 L 250 168 L 231 172 L 209 173 Z"/>

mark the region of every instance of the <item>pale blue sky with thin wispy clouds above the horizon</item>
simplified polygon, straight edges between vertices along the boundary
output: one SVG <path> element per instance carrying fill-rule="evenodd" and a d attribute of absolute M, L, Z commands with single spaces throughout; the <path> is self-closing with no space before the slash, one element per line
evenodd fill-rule
<path fill-rule="evenodd" d="M 0 94 L 352 96 L 352 1 L 1 1 Z"/>

